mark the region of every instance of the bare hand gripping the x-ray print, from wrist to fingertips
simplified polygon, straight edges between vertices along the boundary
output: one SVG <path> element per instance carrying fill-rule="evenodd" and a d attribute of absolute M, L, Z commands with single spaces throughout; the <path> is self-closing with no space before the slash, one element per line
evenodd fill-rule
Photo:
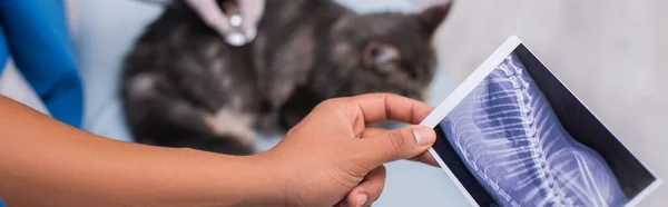
<path fill-rule="evenodd" d="M 369 125 L 418 124 L 432 107 L 374 93 L 324 101 L 273 149 L 259 154 L 282 180 L 286 206 L 371 206 L 385 184 L 383 164 L 412 159 L 436 166 L 426 152 L 435 132 L 424 126 L 387 130 Z"/>

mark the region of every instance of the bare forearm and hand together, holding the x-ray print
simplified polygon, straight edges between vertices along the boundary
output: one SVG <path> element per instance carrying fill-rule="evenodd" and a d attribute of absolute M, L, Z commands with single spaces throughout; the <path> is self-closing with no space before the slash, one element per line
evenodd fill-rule
<path fill-rule="evenodd" d="M 0 96 L 0 195 L 9 206 L 371 206 L 383 164 L 435 166 L 432 107 L 395 95 L 318 105 L 273 149 L 228 156 L 115 141 Z"/>

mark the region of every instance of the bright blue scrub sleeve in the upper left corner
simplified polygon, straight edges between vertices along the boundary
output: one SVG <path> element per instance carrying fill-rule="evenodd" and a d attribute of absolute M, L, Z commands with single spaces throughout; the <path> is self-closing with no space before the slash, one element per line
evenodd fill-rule
<path fill-rule="evenodd" d="M 9 56 L 49 112 L 80 127 L 84 92 L 62 0 L 0 0 L 0 26 Z"/>

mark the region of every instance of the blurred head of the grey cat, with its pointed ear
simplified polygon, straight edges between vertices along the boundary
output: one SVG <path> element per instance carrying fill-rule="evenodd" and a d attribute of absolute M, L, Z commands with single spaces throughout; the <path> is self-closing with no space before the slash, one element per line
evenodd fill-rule
<path fill-rule="evenodd" d="M 393 92 L 424 100 L 436 68 L 432 38 L 449 10 L 442 3 L 341 18 L 317 55 L 312 89 L 324 98 Z"/>

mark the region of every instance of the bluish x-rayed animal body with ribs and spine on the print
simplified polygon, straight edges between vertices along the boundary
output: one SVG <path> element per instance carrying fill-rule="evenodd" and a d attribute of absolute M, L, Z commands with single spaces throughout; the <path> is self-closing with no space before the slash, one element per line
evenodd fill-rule
<path fill-rule="evenodd" d="M 514 53 L 439 126 L 500 206 L 623 206 L 606 160 L 562 127 Z"/>

